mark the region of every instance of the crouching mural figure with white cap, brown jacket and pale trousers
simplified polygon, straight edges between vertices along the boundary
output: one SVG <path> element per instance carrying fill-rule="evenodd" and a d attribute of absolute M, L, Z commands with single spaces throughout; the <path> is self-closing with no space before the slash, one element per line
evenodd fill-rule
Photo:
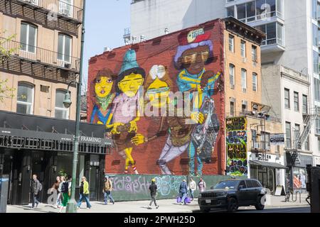
<path fill-rule="evenodd" d="M 147 135 L 138 133 L 132 138 L 132 143 L 139 145 L 150 143 L 162 136 L 167 135 L 166 144 L 161 151 L 157 164 L 160 167 L 162 175 L 174 174 L 169 169 L 168 163 L 179 157 L 188 148 L 191 140 L 192 125 L 187 124 L 188 118 L 183 116 L 170 116 L 169 109 L 173 100 L 170 99 L 169 92 L 173 82 L 169 77 L 166 67 L 154 65 L 148 77 L 144 88 L 146 89 L 146 98 L 149 99 L 151 106 L 161 112 L 161 116 L 152 116 L 150 118 L 152 126 L 159 126 L 154 130 L 148 130 Z M 146 105 L 148 106 L 148 105 Z M 175 112 L 177 106 L 174 106 Z M 148 109 L 146 108 L 145 113 Z M 165 110 L 165 111 L 163 111 Z M 155 111 L 155 113 L 159 113 Z"/>

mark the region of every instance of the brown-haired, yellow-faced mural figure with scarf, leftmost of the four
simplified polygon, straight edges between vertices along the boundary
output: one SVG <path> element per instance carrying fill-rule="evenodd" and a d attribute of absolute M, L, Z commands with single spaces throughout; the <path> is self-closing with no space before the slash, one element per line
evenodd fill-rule
<path fill-rule="evenodd" d="M 92 84 L 95 86 L 95 106 L 92 110 L 90 123 L 106 125 L 111 113 L 111 104 L 114 99 L 114 78 L 110 69 L 97 72 Z"/>

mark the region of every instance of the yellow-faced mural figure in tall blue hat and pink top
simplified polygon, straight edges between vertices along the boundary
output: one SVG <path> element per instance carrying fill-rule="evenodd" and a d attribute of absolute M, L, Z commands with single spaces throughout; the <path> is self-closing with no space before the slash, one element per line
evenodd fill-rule
<path fill-rule="evenodd" d="M 124 55 L 122 68 L 117 77 L 117 97 L 112 103 L 110 119 L 112 124 L 112 138 L 114 144 L 122 157 L 125 159 L 124 173 L 132 166 L 135 174 L 138 174 L 137 167 L 132 157 L 133 144 L 131 139 L 137 134 L 137 121 L 139 113 L 139 89 L 144 84 L 145 72 L 137 63 L 137 55 L 134 50 L 128 50 Z"/>

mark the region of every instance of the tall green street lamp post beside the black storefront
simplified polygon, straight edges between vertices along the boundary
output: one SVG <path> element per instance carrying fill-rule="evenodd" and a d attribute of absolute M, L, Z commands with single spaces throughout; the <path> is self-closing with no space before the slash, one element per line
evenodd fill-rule
<path fill-rule="evenodd" d="M 77 179 L 77 166 L 78 166 L 78 146 L 79 146 L 79 126 L 80 126 L 80 105 L 81 105 L 81 85 L 82 85 L 82 63 L 83 63 L 83 50 L 85 45 L 85 0 L 83 0 L 83 16 L 82 16 L 82 32 L 81 32 L 81 56 L 80 56 L 80 72 L 79 72 L 79 82 L 77 84 L 77 105 L 75 113 L 75 142 L 73 145 L 73 175 L 71 182 L 71 198 L 67 204 L 67 213 L 76 213 L 77 211 L 77 202 L 75 201 L 75 184 Z M 70 82 L 72 84 L 73 82 Z M 68 91 L 65 94 L 65 100 L 63 104 L 66 108 L 69 108 L 72 104 L 70 100 L 70 92 L 68 85 Z"/>

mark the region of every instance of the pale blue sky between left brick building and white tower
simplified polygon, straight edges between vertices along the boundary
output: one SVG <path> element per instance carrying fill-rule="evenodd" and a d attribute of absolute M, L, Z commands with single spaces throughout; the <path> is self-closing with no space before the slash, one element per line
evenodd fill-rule
<path fill-rule="evenodd" d="M 85 12 L 85 52 L 83 79 L 87 81 L 90 57 L 99 55 L 103 48 L 124 45 L 124 28 L 130 27 L 131 0 L 87 0 Z"/>

